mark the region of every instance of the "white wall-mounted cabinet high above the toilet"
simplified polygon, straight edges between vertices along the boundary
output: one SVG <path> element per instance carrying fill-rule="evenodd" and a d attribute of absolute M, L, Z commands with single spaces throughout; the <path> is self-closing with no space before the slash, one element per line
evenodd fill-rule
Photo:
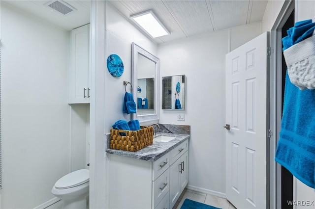
<path fill-rule="evenodd" d="M 90 103 L 90 24 L 69 33 L 69 104 Z"/>

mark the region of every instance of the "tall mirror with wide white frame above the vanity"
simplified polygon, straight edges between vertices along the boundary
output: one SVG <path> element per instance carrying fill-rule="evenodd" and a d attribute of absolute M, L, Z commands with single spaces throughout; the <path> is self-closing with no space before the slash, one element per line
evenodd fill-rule
<path fill-rule="evenodd" d="M 159 118 L 159 58 L 135 43 L 131 45 L 131 80 L 139 122 Z"/>

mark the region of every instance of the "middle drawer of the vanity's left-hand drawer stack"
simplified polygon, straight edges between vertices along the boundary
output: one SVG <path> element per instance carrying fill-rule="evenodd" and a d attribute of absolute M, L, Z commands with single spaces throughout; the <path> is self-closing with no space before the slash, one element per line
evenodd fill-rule
<path fill-rule="evenodd" d="M 156 208 L 166 194 L 169 194 L 169 170 L 152 182 L 153 208 Z M 168 195 L 169 196 L 169 195 Z"/>

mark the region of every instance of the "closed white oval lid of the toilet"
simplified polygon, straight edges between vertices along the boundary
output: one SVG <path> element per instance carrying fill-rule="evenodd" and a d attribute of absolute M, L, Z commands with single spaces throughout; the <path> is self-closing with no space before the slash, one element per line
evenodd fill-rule
<path fill-rule="evenodd" d="M 90 171 L 87 169 L 81 169 L 71 172 L 62 178 L 60 178 L 56 183 L 55 187 L 57 189 L 67 189 L 74 186 L 81 185 L 90 181 Z"/>

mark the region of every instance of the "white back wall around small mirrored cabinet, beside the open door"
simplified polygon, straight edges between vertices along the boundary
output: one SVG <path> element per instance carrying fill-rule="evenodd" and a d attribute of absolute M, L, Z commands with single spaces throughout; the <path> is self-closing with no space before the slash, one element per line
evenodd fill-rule
<path fill-rule="evenodd" d="M 161 77 L 187 78 L 185 111 L 161 110 L 159 122 L 191 126 L 188 188 L 225 195 L 225 54 L 259 34 L 260 23 L 158 46 Z"/>

